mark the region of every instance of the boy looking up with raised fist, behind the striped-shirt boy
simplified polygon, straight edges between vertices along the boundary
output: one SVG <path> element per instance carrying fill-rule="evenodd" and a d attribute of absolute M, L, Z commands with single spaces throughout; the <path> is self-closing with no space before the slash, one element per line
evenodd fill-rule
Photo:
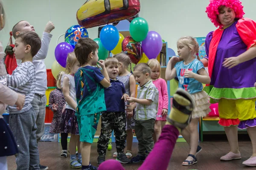
<path fill-rule="evenodd" d="M 33 64 L 35 65 L 35 96 L 32 101 L 32 106 L 35 110 L 36 114 L 36 138 L 37 142 L 41 140 L 41 137 L 44 135 L 44 120 L 45 120 L 45 107 L 47 103 L 47 99 L 45 96 L 45 91 L 47 90 L 47 73 L 46 67 L 44 64 L 44 59 L 47 56 L 49 43 L 52 38 L 52 34 L 50 32 L 54 29 L 54 24 L 49 21 L 44 29 L 42 40 L 41 40 L 41 48 L 38 53 L 33 57 Z M 34 26 L 30 25 L 27 21 L 20 21 L 12 28 L 13 37 L 16 39 L 17 35 L 23 31 L 34 31 Z M 17 59 L 17 64 L 20 64 L 20 60 Z M 48 167 L 44 165 L 39 165 L 40 170 L 47 170 Z"/>

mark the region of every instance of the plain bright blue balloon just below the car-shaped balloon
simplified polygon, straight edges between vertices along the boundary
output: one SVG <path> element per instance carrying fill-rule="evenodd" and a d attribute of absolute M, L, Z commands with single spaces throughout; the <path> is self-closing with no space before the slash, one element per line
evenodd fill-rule
<path fill-rule="evenodd" d="M 119 41 L 119 32 L 115 26 L 107 25 L 102 28 L 99 34 L 102 45 L 108 50 L 113 50 Z"/>

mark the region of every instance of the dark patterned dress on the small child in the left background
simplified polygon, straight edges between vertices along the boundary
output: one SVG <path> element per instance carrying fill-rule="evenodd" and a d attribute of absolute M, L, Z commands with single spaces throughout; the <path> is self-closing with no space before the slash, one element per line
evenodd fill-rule
<path fill-rule="evenodd" d="M 49 96 L 49 108 L 53 111 L 53 119 L 50 126 L 50 133 L 61 133 L 60 124 L 61 124 L 61 115 L 62 109 L 66 103 L 64 98 L 63 92 L 60 88 L 56 88 L 55 90 L 51 91 Z M 52 109 L 52 105 L 58 105 L 57 111 Z"/>

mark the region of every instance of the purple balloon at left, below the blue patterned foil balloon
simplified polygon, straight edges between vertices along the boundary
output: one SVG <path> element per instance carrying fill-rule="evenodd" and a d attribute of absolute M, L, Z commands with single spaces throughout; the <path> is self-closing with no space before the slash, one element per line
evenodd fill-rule
<path fill-rule="evenodd" d="M 67 55 L 73 51 L 74 48 L 72 45 L 67 42 L 61 42 L 55 48 L 55 59 L 62 67 L 65 68 L 67 64 Z"/>

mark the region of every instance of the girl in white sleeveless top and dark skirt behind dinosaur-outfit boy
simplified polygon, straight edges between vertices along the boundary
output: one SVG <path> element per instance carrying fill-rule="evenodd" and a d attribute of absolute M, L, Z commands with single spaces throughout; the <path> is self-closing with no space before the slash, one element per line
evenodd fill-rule
<path fill-rule="evenodd" d="M 80 65 L 74 52 L 67 56 L 67 66 L 63 76 L 62 91 L 66 100 L 65 110 L 61 117 L 61 132 L 71 133 L 70 136 L 70 166 L 72 168 L 82 167 L 82 156 L 80 150 L 80 136 L 76 117 L 76 90 L 74 75 Z M 78 160 L 76 160 L 76 146 L 78 148 Z"/>

